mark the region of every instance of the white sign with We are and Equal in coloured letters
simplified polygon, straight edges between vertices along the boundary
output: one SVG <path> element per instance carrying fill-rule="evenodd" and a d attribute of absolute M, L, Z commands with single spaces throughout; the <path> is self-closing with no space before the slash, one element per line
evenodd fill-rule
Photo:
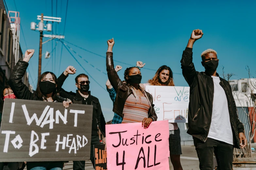
<path fill-rule="evenodd" d="M 146 86 L 146 91 L 153 96 L 157 120 L 187 123 L 189 90 L 179 86 Z"/>

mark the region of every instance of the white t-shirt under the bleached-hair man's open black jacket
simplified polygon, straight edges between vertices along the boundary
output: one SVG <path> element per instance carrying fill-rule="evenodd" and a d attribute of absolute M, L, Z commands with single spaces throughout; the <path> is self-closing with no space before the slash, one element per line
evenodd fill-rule
<path fill-rule="evenodd" d="M 230 124 L 228 100 L 220 86 L 220 78 L 212 76 L 214 84 L 213 113 L 207 137 L 233 145 L 233 134 Z"/>

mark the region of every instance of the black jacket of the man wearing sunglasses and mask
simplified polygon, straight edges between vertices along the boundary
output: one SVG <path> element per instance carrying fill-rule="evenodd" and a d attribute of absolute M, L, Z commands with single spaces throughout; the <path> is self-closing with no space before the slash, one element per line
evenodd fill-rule
<path fill-rule="evenodd" d="M 98 135 L 98 128 L 97 128 L 97 125 L 98 125 L 100 132 L 104 137 L 106 137 L 106 129 L 105 129 L 106 121 L 101 110 L 99 99 L 91 95 L 91 91 L 88 91 L 89 93 L 88 98 L 82 97 L 78 91 L 76 91 L 76 93 L 65 91 L 61 87 L 66 78 L 67 76 L 65 76 L 63 73 L 58 78 L 58 87 L 60 89 L 59 90 L 60 96 L 70 99 L 74 104 L 93 105 L 92 135 Z"/>

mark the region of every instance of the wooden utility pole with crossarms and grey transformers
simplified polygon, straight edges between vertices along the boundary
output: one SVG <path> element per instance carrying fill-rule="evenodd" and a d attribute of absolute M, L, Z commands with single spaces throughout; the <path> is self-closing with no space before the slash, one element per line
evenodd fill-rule
<path fill-rule="evenodd" d="M 39 61 L 38 61 L 38 78 L 41 76 L 41 68 L 42 68 L 42 45 L 48 41 L 51 41 L 55 38 L 58 39 L 63 39 L 64 36 L 63 35 L 43 35 L 43 31 L 48 31 L 51 32 L 52 31 L 52 24 L 47 23 L 48 21 L 52 21 L 52 22 L 61 22 L 61 18 L 57 18 L 57 17 L 48 17 L 48 16 L 43 16 L 43 13 L 41 15 L 37 16 L 37 20 L 40 20 L 40 22 L 38 23 L 38 25 L 35 22 L 31 22 L 30 25 L 30 29 L 35 31 L 35 30 L 39 30 L 40 31 L 40 41 L 39 41 Z M 46 21 L 46 25 L 44 25 L 43 21 Z M 38 28 L 36 28 L 38 27 Z M 46 29 L 44 29 L 46 28 Z M 43 42 L 43 37 L 45 38 L 51 38 L 46 40 L 45 42 Z"/>

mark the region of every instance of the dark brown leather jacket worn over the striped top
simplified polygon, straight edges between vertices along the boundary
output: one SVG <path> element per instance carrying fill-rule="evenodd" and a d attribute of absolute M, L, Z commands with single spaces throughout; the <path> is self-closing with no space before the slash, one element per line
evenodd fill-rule
<path fill-rule="evenodd" d="M 132 94 L 132 90 L 128 87 L 126 83 L 122 83 L 122 80 L 117 75 L 113 64 L 113 52 L 107 52 L 107 72 L 109 81 L 117 94 L 114 102 L 113 112 L 124 118 L 123 110 L 125 102 L 128 96 Z M 149 102 L 151 103 L 151 106 L 148 110 L 148 118 L 156 121 L 157 115 L 154 109 L 155 105 L 153 104 L 153 97 L 148 92 L 146 92 L 146 95 L 149 99 Z"/>

